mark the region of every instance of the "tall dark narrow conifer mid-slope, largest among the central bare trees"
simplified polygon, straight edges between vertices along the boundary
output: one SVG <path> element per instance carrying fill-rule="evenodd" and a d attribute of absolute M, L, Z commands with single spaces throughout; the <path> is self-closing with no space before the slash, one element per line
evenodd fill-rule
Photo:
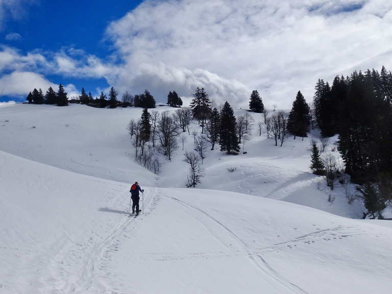
<path fill-rule="evenodd" d="M 236 132 L 236 118 L 230 104 L 226 101 L 220 113 L 220 151 L 227 154 L 238 154 L 240 150 Z"/>

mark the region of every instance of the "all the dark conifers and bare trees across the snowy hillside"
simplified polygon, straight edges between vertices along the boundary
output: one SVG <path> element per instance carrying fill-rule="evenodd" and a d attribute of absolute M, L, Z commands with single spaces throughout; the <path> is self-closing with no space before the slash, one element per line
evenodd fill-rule
<path fill-rule="evenodd" d="M 275 145 L 282 146 L 289 136 L 293 139 L 306 137 L 310 128 L 319 128 L 325 141 L 338 135 L 338 146 L 344 168 L 337 166 L 331 157 L 320 156 L 322 150 L 314 141 L 311 146 L 311 166 L 314 174 L 323 176 L 333 189 L 335 181 L 344 181 L 343 174 L 350 176 L 351 182 L 358 184 L 368 214 L 382 217 L 386 205 L 392 205 L 392 74 L 385 67 L 377 70 L 354 71 L 351 76 L 336 76 L 332 86 L 323 79 L 315 85 L 313 103 L 308 104 L 298 91 L 289 113 L 264 108 L 262 98 L 253 90 L 249 99 L 249 111 L 261 113 L 263 121 L 257 122 L 258 135 L 262 129 Z M 191 120 L 198 122 L 201 134 L 192 134 L 194 151 L 184 154 L 189 163 L 186 185 L 195 186 L 204 176 L 202 163 L 206 148 L 237 155 L 240 145 L 249 140 L 255 121 L 251 114 L 234 116 L 229 102 L 216 106 L 209 99 L 204 88 L 197 88 L 189 107 L 182 107 L 181 97 L 176 91 L 167 95 L 167 105 L 178 108 L 174 112 L 149 109 L 156 107 L 151 93 L 146 89 L 141 94 L 131 95 L 128 91 L 118 100 L 118 92 L 112 87 L 108 95 L 101 92 L 93 99 L 91 92 L 84 88 L 79 97 L 68 100 L 67 93 L 60 84 L 57 92 L 50 87 L 45 94 L 34 89 L 27 96 L 29 103 L 56 104 L 81 103 L 92 107 L 141 107 L 142 116 L 131 120 L 128 131 L 133 139 L 135 161 L 159 173 L 159 156 L 171 159 L 173 152 L 186 139 L 180 136 L 188 131 Z"/>

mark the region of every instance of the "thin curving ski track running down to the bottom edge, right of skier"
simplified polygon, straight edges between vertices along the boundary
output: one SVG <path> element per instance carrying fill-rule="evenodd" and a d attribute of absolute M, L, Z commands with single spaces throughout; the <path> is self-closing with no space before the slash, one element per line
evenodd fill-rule
<path fill-rule="evenodd" d="M 243 239 L 241 239 L 234 231 L 232 231 L 229 227 L 225 226 L 222 222 L 219 222 L 218 219 L 216 219 L 215 217 L 213 217 L 212 215 L 210 215 L 209 213 L 205 212 L 204 210 L 186 203 L 182 200 L 179 200 L 177 198 L 174 197 L 170 197 L 168 195 L 166 195 L 165 193 L 162 193 L 162 195 L 168 197 L 169 199 L 174 200 L 175 202 L 185 206 L 186 208 L 189 208 L 193 211 L 196 211 L 198 213 L 200 213 L 201 215 L 203 215 L 204 217 L 209 218 L 210 220 L 213 221 L 213 224 L 215 224 L 216 226 L 220 227 L 220 229 L 225 230 L 226 232 L 228 232 L 231 237 L 236 241 L 236 243 L 239 245 L 239 247 L 242 247 L 243 252 L 246 252 L 246 255 L 249 257 L 249 259 L 251 260 L 251 262 L 260 270 L 260 272 L 263 275 L 266 275 L 268 277 L 270 277 L 271 279 L 275 280 L 276 282 L 278 282 L 278 284 L 282 285 L 283 287 L 285 287 L 287 289 L 287 291 L 289 291 L 290 293 L 302 293 L 302 294 L 308 294 L 307 291 L 301 289 L 299 286 L 291 283 L 290 281 L 288 281 L 286 278 L 284 278 L 282 275 L 280 275 L 277 271 L 275 271 L 275 269 L 273 267 L 271 267 L 268 262 L 259 255 L 259 253 L 256 253 L 254 250 L 251 250 L 250 246 L 248 245 L 248 243 L 246 241 L 244 241 Z M 219 237 L 217 237 L 216 234 L 213 233 L 213 231 L 209 228 L 206 227 L 216 238 L 219 239 Z M 222 243 L 226 243 L 223 240 L 220 240 Z M 229 247 L 228 247 L 229 248 Z M 230 248 L 230 250 L 233 250 L 232 248 Z M 237 254 L 236 252 L 234 252 L 235 254 Z M 286 292 L 287 293 L 287 292 Z"/>

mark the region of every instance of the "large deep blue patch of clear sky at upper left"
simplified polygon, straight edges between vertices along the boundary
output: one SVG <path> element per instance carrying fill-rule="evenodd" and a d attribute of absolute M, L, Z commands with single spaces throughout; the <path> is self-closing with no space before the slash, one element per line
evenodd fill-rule
<path fill-rule="evenodd" d="M 68 0 L 61 3 L 41 0 L 30 5 L 23 5 L 21 2 L 17 9 L 22 15 L 5 17 L 1 38 L 5 40 L 5 44 L 17 46 L 24 53 L 37 48 L 56 52 L 63 46 L 74 46 L 105 58 L 108 55 L 108 46 L 102 42 L 105 28 L 140 2 Z M 7 35 L 13 33 L 19 34 L 20 37 L 7 40 Z"/>

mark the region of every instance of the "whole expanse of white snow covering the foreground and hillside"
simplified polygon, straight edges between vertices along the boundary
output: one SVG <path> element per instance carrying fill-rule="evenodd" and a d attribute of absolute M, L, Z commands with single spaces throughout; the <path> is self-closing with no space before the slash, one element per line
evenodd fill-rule
<path fill-rule="evenodd" d="M 210 151 L 200 186 L 184 188 L 181 147 L 158 176 L 132 161 L 125 128 L 140 115 L 0 108 L 0 293 L 390 292 L 392 223 L 354 219 L 349 187 L 309 173 L 308 139 Z"/>

